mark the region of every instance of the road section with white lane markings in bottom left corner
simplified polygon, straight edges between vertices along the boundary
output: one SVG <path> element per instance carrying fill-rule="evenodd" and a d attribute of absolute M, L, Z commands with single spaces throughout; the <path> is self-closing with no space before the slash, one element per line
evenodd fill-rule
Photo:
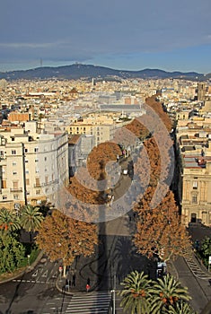
<path fill-rule="evenodd" d="M 55 287 L 59 263 L 42 258 L 30 273 L 0 284 L 1 314 L 54 314 L 66 309 L 70 296 Z"/>

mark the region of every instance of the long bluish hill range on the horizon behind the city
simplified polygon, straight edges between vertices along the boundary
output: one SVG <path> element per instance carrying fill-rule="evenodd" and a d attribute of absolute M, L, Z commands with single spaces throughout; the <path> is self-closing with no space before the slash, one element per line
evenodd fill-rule
<path fill-rule="evenodd" d="M 115 70 L 109 67 L 97 66 L 97 65 L 65 65 L 65 66 L 42 66 L 30 70 L 0 72 L 0 79 L 6 80 L 18 80 L 18 79 L 58 79 L 58 80 L 71 80 L 71 79 L 87 79 L 92 78 L 96 80 L 101 79 L 126 79 L 126 78 L 180 78 L 189 80 L 205 80 L 204 74 L 198 74 L 196 72 L 166 72 L 159 69 L 145 69 L 140 71 L 125 71 Z"/>

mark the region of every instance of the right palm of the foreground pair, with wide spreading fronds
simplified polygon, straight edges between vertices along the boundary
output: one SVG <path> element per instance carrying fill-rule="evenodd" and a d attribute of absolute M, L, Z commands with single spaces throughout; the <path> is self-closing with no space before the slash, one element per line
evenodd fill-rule
<path fill-rule="evenodd" d="M 158 278 L 151 292 L 153 292 L 151 299 L 152 314 L 159 314 L 162 311 L 169 313 L 169 309 L 175 309 L 178 302 L 191 299 L 188 288 L 181 287 L 180 282 L 169 274 L 163 278 Z"/>

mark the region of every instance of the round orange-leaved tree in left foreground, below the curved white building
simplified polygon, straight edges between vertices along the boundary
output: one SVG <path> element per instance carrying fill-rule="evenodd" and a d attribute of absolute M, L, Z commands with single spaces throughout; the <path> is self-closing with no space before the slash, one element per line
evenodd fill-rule
<path fill-rule="evenodd" d="M 54 210 L 41 223 L 36 243 L 51 260 L 63 260 L 65 274 L 66 266 L 71 265 L 75 257 L 87 257 L 94 252 L 98 243 L 96 225 L 76 221 Z"/>

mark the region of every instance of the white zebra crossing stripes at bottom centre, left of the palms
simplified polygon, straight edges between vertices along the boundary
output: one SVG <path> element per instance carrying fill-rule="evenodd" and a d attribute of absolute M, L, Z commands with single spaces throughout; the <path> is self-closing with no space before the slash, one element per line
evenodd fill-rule
<path fill-rule="evenodd" d="M 66 308 L 66 314 L 108 314 L 110 292 L 75 293 Z"/>

